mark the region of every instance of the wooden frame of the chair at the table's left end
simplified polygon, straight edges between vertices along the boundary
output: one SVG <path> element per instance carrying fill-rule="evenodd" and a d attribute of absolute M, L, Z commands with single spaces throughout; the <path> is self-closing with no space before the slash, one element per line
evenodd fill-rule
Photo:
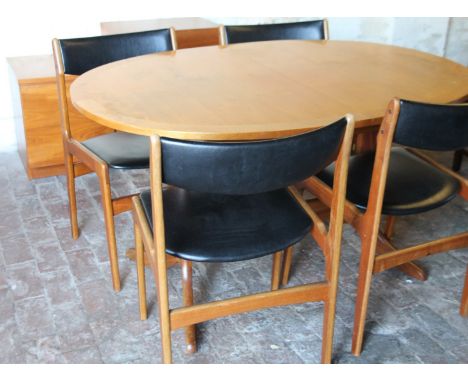
<path fill-rule="evenodd" d="M 175 38 L 175 31 L 173 28 L 170 29 L 171 40 L 173 49 L 177 49 L 177 43 Z M 62 139 L 63 139 L 63 151 L 65 160 L 65 171 L 67 176 L 67 191 L 69 200 L 69 213 L 70 213 L 70 224 L 73 239 L 79 237 L 78 227 L 78 213 L 76 204 L 76 193 L 75 193 L 75 178 L 87 174 L 89 172 L 96 173 L 99 179 L 99 186 L 101 189 L 102 207 L 104 212 L 104 222 L 106 226 L 107 236 L 107 247 L 109 251 L 109 260 L 111 265 L 112 273 L 112 284 L 116 292 L 120 291 L 120 275 L 119 275 L 119 262 L 117 254 L 117 243 L 115 238 L 115 226 L 114 216 L 122 212 L 131 210 L 132 203 L 131 197 L 123 196 L 120 198 L 112 199 L 111 184 L 109 178 L 109 166 L 108 164 L 99 158 L 96 154 L 91 152 L 88 148 L 82 145 L 78 140 L 72 136 L 72 130 L 70 126 L 69 108 L 72 107 L 70 103 L 70 97 L 67 94 L 67 78 L 74 78 L 77 76 L 71 76 L 65 74 L 63 65 L 63 58 L 61 49 L 59 46 L 59 40 L 54 39 L 52 41 L 55 70 L 57 76 L 57 89 L 59 98 L 59 108 L 61 116 L 61 127 L 62 127 Z M 79 160 L 79 163 L 74 163 L 73 157 Z"/>

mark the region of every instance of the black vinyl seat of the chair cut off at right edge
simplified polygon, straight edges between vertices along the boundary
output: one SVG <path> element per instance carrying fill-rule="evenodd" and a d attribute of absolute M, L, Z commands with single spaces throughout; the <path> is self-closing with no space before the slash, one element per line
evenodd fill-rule
<path fill-rule="evenodd" d="M 358 208 L 367 208 L 374 152 L 350 158 L 346 198 Z M 318 178 L 333 184 L 333 165 Z M 459 182 L 402 148 L 392 148 L 382 214 L 412 215 L 430 211 L 452 200 L 460 189 Z"/>

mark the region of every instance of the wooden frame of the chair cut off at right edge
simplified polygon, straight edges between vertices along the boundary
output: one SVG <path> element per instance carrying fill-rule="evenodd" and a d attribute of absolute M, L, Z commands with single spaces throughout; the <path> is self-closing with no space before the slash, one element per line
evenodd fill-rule
<path fill-rule="evenodd" d="M 357 287 L 354 329 L 352 340 L 352 352 L 354 355 L 360 355 L 364 337 L 364 325 L 369 301 L 370 286 L 372 275 L 385 271 L 390 268 L 398 267 L 403 272 L 425 280 L 425 272 L 412 261 L 424 258 L 431 254 L 446 252 L 451 249 L 463 248 L 468 246 L 468 231 L 457 235 L 433 240 L 427 243 L 414 245 L 408 248 L 396 249 L 388 240 L 393 231 L 394 218 L 387 221 L 385 233 L 379 229 L 383 196 L 385 191 L 388 165 L 392 148 L 393 136 L 400 111 L 398 99 L 394 99 L 384 116 L 382 124 L 377 134 L 377 149 L 375 154 L 374 168 L 372 172 L 372 181 L 369 191 L 369 201 L 367 210 L 363 213 L 358 208 L 346 201 L 344 219 L 351 224 L 361 238 L 361 261 L 359 267 L 359 279 Z M 408 151 L 417 155 L 421 159 L 430 163 L 439 170 L 456 178 L 460 182 L 459 195 L 465 200 L 468 199 L 468 180 L 442 166 L 425 154 L 408 149 Z M 324 182 L 317 178 L 311 178 L 301 184 L 301 187 L 307 189 L 314 195 L 325 201 L 327 206 L 331 205 L 332 190 Z M 377 254 L 376 254 L 377 253 Z M 287 265 L 285 269 L 289 269 Z M 468 276 L 467 276 L 468 277 Z M 285 276 L 287 280 L 287 276 Z M 466 282 L 468 283 L 468 282 Z M 466 284 L 465 283 L 465 284 Z M 467 313 L 468 310 L 468 287 L 465 286 L 464 297 L 462 298 L 461 312 Z"/>

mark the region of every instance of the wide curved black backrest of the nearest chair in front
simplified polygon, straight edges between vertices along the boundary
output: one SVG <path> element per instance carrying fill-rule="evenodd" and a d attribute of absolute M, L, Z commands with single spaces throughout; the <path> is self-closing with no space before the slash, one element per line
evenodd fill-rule
<path fill-rule="evenodd" d="M 163 182 L 192 191 L 247 195 L 287 187 L 335 160 L 346 118 L 268 141 L 216 143 L 162 138 Z"/>

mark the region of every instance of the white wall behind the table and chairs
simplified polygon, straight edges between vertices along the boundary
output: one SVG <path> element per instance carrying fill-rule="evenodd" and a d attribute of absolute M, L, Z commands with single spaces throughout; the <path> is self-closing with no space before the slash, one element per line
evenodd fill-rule
<path fill-rule="evenodd" d="M 21 4 L 16 0 L 15 4 Z M 81 0 L 73 8 L 67 2 L 31 1 L 0 12 L 0 120 L 13 117 L 6 57 L 50 54 L 53 37 L 68 38 L 100 33 L 101 21 L 168 17 L 157 2 L 145 7 L 117 0 L 97 6 L 98 0 Z M 5 0 L 4 3 L 6 4 Z M 153 4 L 153 5 L 148 5 Z M 208 19 L 224 24 L 270 23 L 284 17 Z M 313 17 L 312 17 L 313 18 Z M 322 17 L 317 17 L 322 18 Z M 308 20 L 293 17 L 289 20 Z M 416 48 L 468 65 L 468 18 L 330 17 L 331 39 L 373 41 Z M 2 139 L 0 130 L 0 140 Z"/>

